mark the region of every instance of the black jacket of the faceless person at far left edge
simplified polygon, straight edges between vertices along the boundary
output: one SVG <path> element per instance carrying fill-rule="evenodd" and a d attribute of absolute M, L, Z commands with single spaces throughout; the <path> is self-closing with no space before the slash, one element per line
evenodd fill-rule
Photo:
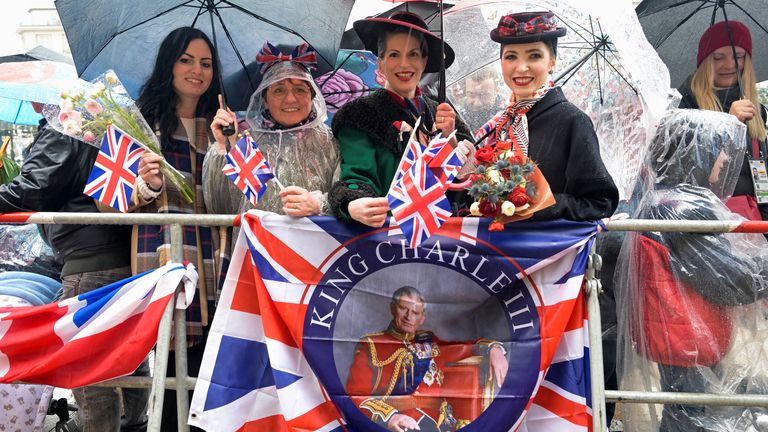
<path fill-rule="evenodd" d="M 19 211 L 98 212 L 84 195 L 98 149 L 41 126 L 21 173 L 0 185 L 0 213 Z M 62 275 L 130 265 L 130 226 L 45 225 L 43 230 Z"/>

